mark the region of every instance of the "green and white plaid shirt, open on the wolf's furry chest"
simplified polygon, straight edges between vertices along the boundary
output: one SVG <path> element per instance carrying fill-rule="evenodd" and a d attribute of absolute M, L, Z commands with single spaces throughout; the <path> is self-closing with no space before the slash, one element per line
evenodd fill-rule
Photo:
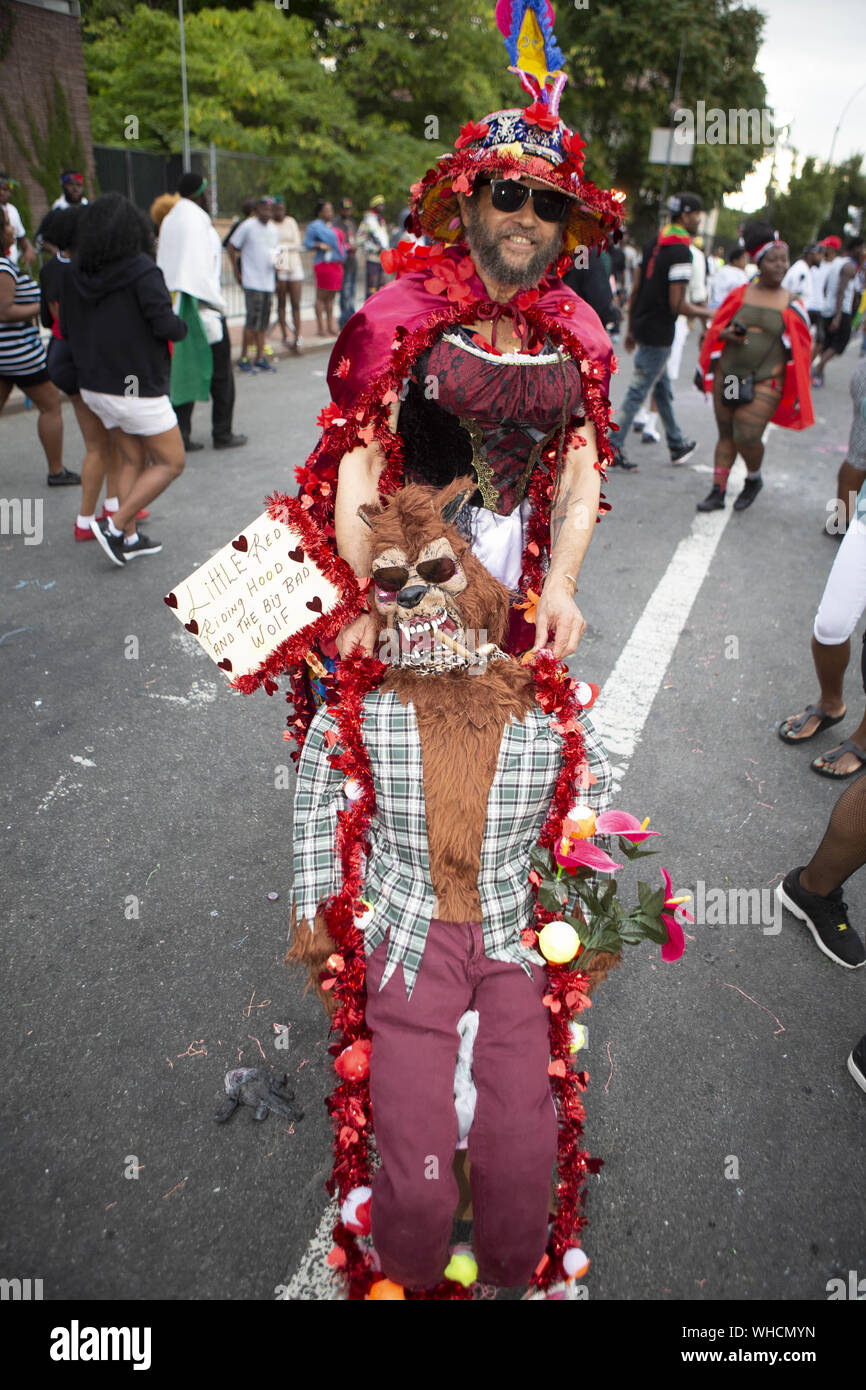
<path fill-rule="evenodd" d="M 370 755 L 377 810 L 370 826 L 370 856 L 364 898 L 374 915 L 364 934 L 367 955 L 388 935 L 382 986 L 403 966 L 407 995 L 418 974 L 435 892 L 427 852 L 427 813 L 421 739 L 411 703 L 393 691 L 364 699 L 363 737 Z M 534 706 L 523 723 L 502 734 L 499 759 L 487 803 L 481 842 L 478 895 L 484 949 L 493 960 L 510 960 L 530 974 L 530 955 L 520 933 L 531 920 L 530 853 L 538 844 L 550 796 L 562 769 L 562 738 L 553 717 Z M 595 784 L 581 801 L 603 810 L 610 798 L 610 764 L 587 714 L 581 728 Z M 325 733 L 336 733 L 334 714 L 317 710 L 297 766 L 295 790 L 293 872 L 297 920 L 313 923 L 322 899 L 338 892 L 336 813 L 348 805 L 345 776 L 328 759 Z"/>

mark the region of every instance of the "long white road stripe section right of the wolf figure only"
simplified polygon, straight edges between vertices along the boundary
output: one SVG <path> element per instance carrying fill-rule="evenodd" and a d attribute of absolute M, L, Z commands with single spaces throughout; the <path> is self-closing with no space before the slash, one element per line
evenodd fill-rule
<path fill-rule="evenodd" d="M 740 484 L 744 477 L 745 467 L 738 463 L 731 481 Z M 617 791 L 731 512 L 730 505 L 724 512 L 698 512 L 592 708 Z"/>

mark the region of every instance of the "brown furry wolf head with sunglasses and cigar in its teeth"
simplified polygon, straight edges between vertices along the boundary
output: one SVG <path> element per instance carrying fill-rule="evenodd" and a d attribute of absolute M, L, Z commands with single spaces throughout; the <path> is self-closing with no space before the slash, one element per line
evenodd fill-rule
<path fill-rule="evenodd" d="M 459 664 L 453 649 L 436 641 L 438 631 L 473 652 L 505 635 L 509 592 L 453 524 L 474 491 L 468 477 L 441 491 L 410 484 L 359 509 L 373 532 L 370 596 L 379 649 L 391 639 L 391 664 Z"/>

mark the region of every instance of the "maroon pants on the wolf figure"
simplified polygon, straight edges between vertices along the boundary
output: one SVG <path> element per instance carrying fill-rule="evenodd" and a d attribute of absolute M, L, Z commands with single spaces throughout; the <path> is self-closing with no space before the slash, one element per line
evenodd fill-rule
<path fill-rule="evenodd" d="M 478 1009 L 468 1136 L 473 1250 L 482 1283 L 524 1284 L 548 1241 L 556 1112 L 548 1086 L 544 967 L 532 979 L 489 960 L 481 923 L 430 924 L 411 999 L 400 967 L 384 990 L 386 941 L 367 960 L 370 1087 L 382 1158 L 373 1182 L 373 1244 L 409 1289 L 439 1283 L 449 1259 L 457 1183 L 457 1022 Z"/>

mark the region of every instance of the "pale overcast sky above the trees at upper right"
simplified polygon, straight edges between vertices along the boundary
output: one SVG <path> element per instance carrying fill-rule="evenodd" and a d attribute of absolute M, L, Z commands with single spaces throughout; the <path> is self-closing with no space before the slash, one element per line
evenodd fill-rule
<path fill-rule="evenodd" d="M 758 68 L 777 121 L 792 118 L 790 140 L 799 164 L 806 154 L 826 160 L 842 108 L 851 101 L 833 152 L 833 161 L 866 154 L 866 4 L 863 0 L 751 0 L 766 17 Z M 780 152 L 777 170 L 785 182 L 791 156 Z M 799 167 L 799 165 L 798 165 Z M 756 207 L 767 185 L 769 160 L 758 165 L 744 192 L 726 199 Z"/>

